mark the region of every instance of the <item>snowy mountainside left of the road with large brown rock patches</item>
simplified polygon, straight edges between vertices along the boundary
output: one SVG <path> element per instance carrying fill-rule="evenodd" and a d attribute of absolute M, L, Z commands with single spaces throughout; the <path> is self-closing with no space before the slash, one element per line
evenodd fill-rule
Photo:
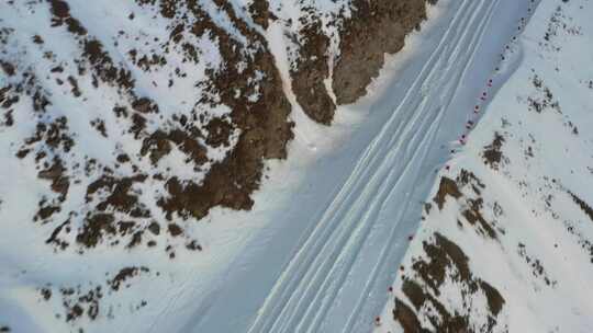
<path fill-rule="evenodd" d="M 0 328 L 200 318 L 273 222 L 223 208 L 332 145 L 320 124 L 425 19 L 425 0 L 0 1 Z"/>

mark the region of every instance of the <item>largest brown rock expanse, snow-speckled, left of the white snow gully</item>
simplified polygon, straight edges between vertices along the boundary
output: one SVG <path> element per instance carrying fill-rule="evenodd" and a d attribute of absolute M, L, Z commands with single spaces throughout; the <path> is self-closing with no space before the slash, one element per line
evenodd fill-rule
<path fill-rule="evenodd" d="M 248 41 L 247 44 L 240 43 L 217 25 L 210 13 L 197 1 L 138 0 L 137 2 L 141 5 L 158 7 L 157 13 L 170 20 L 171 37 L 164 42 L 163 54 L 143 55 L 137 49 L 132 49 L 127 54 L 128 58 L 126 57 L 123 62 L 116 62 L 114 59 L 120 57 L 112 57 L 109 48 L 103 45 L 104 41 L 87 34 L 82 23 L 71 16 L 66 1 L 49 1 L 53 25 L 56 28 L 66 25 L 81 49 L 82 57 L 74 61 L 78 76 L 68 73 L 66 77 L 71 85 L 70 93 L 75 97 L 82 95 L 78 82 L 83 76 L 90 76 L 97 89 L 103 89 L 100 85 L 105 85 L 105 89 L 115 87 L 121 101 L 110 107 L 120 125 L 127 126 L 126 130 L 133 134 L 134 139 L 142 142 L 138 152 L 114 153 L 118 161 L 115 165 L 101 165 L 92 158 L 86 160 L 85 174 L 86 176 L 93 175 L 96 180 L 87 188 L 83 214 L 70 211 L 68 220 L 54 221 L 52 217 L 60 213 L 59 203 L 52 198 L 40 202 L 35 219 L 44 223 L 56 223 L 47 238 L 47 243 L 56 245 L 57 249 L 68 246 L 69 243 L 66 240 L 71 239 L 71 236 L 68 236 L 71 231 L 75 232 L 77 244 L 83 248 L 94 248 L 108 240 L 110 244 L 118 244 L 124 237 L 127 237 L 126 246 L 133 248 L 143 243 L 146 238 L 159 234 L 159 225 L 150 220 L 150 211 L 138 198 L 137 191 L 141 191 L 141 184 L 147 179 L 147 174 L 152 174 L 150 180 L 163 184 L 168 192 L 167 196 L 156 199 L 169 218 L 172 214 L 177 214 L 182 218 L 199 219 L 216 205 L 249 209 L 253 205 L 250 195 L 259 187 L 264 160 L 286 158 L 286 147 L 292 138 L 293 124 L 288 118 L 290 104 L 283 93 L 280 76 L 267 42 L 258 28 L 254 28 L 243 20 L 242 15 L 235 13 L 231 3 L 215 1 L 215 5 L 225 12 L 233 25 Z M 181 8 L 184 14 L 178 15 Z M 269 14 L 267 1 L 256 1 L 251 9 L 261 16 L 258 19 L 255 15 L 254 19 L 262 26 L 269 19 L 273 19 Z M 192 21 L 195 23 L 188 24 Z M 192 111 L 179 114 L 167 110 L 165 114 L 172 114 L 172 116 L 163 119 L 163 113 L 159 110 L 161 106 L 157 101 L 150 96 L 136 95 L 135 80 L 128 68 L 136 66 L 139 70 L 148 71 L 154 66 L 165 65 L 164 55 L 168 53 L 168 47 L 175 44 L 179 44 L 184 50 L 187 57 L 184 61 L 201 61 L 200 50 L 183 39 L 187 34 L 216 39 L 224 65 L 216 70 L 209 69 L 203 81 L 197 83 L 206 93 L 201 100 L 193 101 L 195 107 Z M 125 61 L 130 59 L 131 62 L 126 64 Z M 10 70 L 13 68 L 15 67 L 11 67 Z M 57 77 L 68 72 L 69 69 L 69 66 L 56 64 L 49 72 Z M 174 77 L 184 76 L 179 68 L 172 74 Z M 33 89 L 29 89 L 27 94 L 33 100 L 34 110 L 46 113 L 46 110 L 52 106 L 52 96 L 45 93 L 41 84 L 37 87 L 36 81 L 30 80 L 30 82 Z M 59 79 L 58 83 L 64 84 L 66 80 Z M 169 87 L 171 84 L 172 79 L 169 80 Z M 0 93 L 3 107 L 8 108 L 19 102 L 20 95 L 14 95 L 10 87 L 2 88 Z M 254 96 L 259 97 L 254 99 Z M 83 102 L 85 100 L 80 99 L 80 103 Z M 219 104 L 227 106 L 231 114 L 223 117 L 204 117 L 209 107 Z M 205 114 L 203 114 L 204 110 Z M 156 122 L 163 125 L 149 133 L 148 124 Z M 104 138 L 113 133 L 111 128 L 108 130 L 108 123 L 101 117 L 93 118 L 89 124 Z M 35 156 L 35 162 L 43 166 L 40 168 L 40 177 L 52 181 L 52 188 L 59 195 L 58 202 L 64 200 L 68 195 L 69 176 L 74 173 L 71 165 L 58 163 L 61 161 L 59 157 L 70 152 L 75 142 L 68 130 L 65 117 L 52 123 L 40 122 L 35 134 L 22 145 L 16 153 L 22 159 L 30 153 Z M 238 135 L 234 147 L 231 147 L 232 135 Z M 231 151 L 225 159 L 214 162 L 209 160 L 205 146 L 224 147 Z M 209 162 L 212 163 L 203 181 L 179 180 L 175 174 L 171 175 L 165 171 L 139 172 L 135 158 L 148 157 L 156 169 L 159 160 L 170 153 L 174 147 L 187 157 L 186 163 L 194 164 L 195 171 L 201 170 Z M 47 161 L 47 157 L 54 156 L 58 162 Z M 120 168 L 123 163 L 132 168 L 132 174 L 118 173 L 123 170 Z M 136 183 L 138 183 L 137 190 L 133 188 Z M 125 218 L 120 220 L 122 215 Z M 70 219 L 72 219 L 71 225 L 79 227 L 72 228 Z M 150 232 L 145 234 L 146 229 Z M 167 230 L 168 237 L 175 237 L 182 234 L 183 227 L 168 225 Z M 155 244 L 154 240 L 147 241 Z M 190 242 L 188 249 L 201 250 L 201 245 L 195 241 L 188 241 Z"/>

